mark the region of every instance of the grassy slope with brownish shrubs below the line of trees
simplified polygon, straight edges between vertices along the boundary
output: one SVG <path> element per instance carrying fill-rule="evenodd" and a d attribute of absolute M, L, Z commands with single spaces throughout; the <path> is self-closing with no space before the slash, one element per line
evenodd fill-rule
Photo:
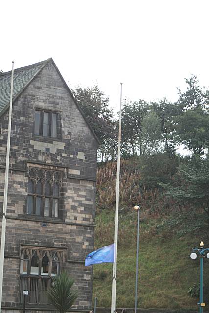
<path fill-rule="evenodd" d="M 160 156 L 161 159 L 163 157 L 166 159 L 167 156 Z M 155 163 L 153 157 L 152 163 Z M 199 283 L 199 260 L 192 261 L 190 253 L 201 240 L 205 246 L 209 246 L 208 224 L 200 209 L 165 197 L 161 188 L 150 188 L 150 181 L 153 186 L 156 180 L 157 186 L 157 181 L 166 183 L 166 180 L 173 179 L 173 164 L 178 164 L 178 160 L 171 160 L 170 165 L 168 163 L 167 160 L 167 166 L 161 166 L 159 171 L 156 167 L 153 172 L 152 168 L 146 168 L 145 160 L 139 158 L 121 162 L 116 289 L 118 307 L 134 307 L 137 214 L 133 206 L 139 204 L 139 308 L 196 308 L 198 298 L 191 298 L 188 291 L 195 291 L 192 286 Z M 99 167 L 95 248 L 114 241 L 115 184 L 116 162 Z M 207 303 L 209 260 L 204 261 L 204 301 Z M 112 264 L 94 265 L 93 297 L 98 298 L 98 306 L 111 306 L 111 292 Z"/>

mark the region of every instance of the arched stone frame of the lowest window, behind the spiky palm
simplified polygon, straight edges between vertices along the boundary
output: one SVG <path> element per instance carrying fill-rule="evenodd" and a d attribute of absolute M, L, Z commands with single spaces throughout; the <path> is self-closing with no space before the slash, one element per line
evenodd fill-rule
<path fill-rule="evenodd" d="M 38 273 L 32 269 L 33 258 L 37 256 Z M 43 269 L 43 258 L 48 258 L 47 273 Z M 47 305 L 46 292 L 51 287 L 52 279 L 65 267 L 66 249 L 21 246 L 20 247 L 20 293 L 19 301 L 23 303 L 23 290 L 28 291 L 27 303 L 31 305 Z M 57 272 L 53 273 L 56 265 Z M 26 269 L 26 271 L 25 271 Z M 33 271 L 32 271 L 33 270 Z"/>

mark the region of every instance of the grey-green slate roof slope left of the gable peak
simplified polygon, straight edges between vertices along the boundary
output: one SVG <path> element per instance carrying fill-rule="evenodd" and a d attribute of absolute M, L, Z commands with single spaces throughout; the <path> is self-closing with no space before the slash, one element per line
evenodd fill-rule
<path fill-rule="evenodd" d="M 22 93 L 23 89 L 28 86 L 31 80 L 40 72 L 49 60 L 50 59 L 14 70 L 13 101 Z M 0 115 L 9 106 L 11 73 L 12 71 L 0 74 Z"/>

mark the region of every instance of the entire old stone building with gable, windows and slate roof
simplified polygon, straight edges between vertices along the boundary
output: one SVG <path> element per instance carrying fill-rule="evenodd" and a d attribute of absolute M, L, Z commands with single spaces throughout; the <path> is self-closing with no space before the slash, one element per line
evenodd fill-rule
<path fill-rule="evenodd" d="M 2 219 L 11 71 L 0 75 L 0 212 Z M 52 59 L 14 71 L 3 312 L 51 312 L 46 291 L 66 269 L 92 305 L 98 140 Z M 30 311 L 29 310 L 29 311 Z M 35 311 L 34 311 L 35 310 Z"/>

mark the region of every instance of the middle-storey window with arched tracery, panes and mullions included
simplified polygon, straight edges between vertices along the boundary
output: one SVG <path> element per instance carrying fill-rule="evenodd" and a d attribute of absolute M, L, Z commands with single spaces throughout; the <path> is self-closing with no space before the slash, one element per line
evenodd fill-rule
<path fill-rule="evenodd" d="M 62 171 L 30 167 L 27 214 L 58 217 L 61 185 Z"/>

